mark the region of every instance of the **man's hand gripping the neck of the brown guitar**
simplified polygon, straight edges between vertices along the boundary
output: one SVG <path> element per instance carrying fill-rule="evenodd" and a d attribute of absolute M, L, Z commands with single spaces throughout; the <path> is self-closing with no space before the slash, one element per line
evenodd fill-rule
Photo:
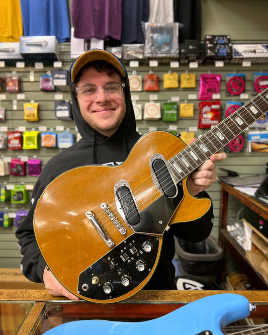
<path fill-rule="evenodd" d="M 208 189 L 215 182 L 217 176 L 215 162 L 224 160 L 226 157 L 227 155 L 225 152 L 218 151 L 214 155 L 210 156 L 210 159 L 206 160 L 188 177 L 186 186 L 188 192 L 192 196 L 196 196 L 198 193 Z"/>

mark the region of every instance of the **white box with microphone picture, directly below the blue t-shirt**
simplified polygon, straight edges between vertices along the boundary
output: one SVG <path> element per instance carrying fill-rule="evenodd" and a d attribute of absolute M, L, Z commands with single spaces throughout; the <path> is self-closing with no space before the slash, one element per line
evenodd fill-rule
<path fill-rule="evenodd" d="M 21 36 L 20 53 L 33 62 L 49 64 L 59 60 L 59 44 L 56 36 Z"/>

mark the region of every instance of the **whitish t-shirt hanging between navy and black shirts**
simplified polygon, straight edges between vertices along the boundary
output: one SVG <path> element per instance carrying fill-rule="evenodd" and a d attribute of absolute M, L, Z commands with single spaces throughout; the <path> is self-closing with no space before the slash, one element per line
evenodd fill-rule
<path fill-rule="evenodd" d="M 148 22 L 173 23 L 173 0 L 150 0 Z"/>

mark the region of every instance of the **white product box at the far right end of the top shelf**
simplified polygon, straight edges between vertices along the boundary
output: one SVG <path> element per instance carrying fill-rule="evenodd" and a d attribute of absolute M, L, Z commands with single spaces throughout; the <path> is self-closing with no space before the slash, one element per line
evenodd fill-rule
<path fill-rule="evenodd" d="M 259 44 L 233 44 L 232 63 L 252 61 L 266 63 L 268 61 L 268 43 Z"/>

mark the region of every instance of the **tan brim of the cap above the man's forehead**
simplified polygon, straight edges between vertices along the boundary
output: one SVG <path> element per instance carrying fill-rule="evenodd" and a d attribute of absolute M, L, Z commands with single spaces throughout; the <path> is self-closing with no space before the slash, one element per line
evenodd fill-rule
<path fill-rule="evenodd" d="M 114 56 L 112 53 L 102 50 L 102 49 L 91 49 L 79 56 L 71 67 L 71 79 L 74 81 L 79 70 L 88 62 L 93 60 L 106 60 L 108 63 L 112 64 L 124 78 L 126 76 L 124 67 L 120 60 Z"/>

